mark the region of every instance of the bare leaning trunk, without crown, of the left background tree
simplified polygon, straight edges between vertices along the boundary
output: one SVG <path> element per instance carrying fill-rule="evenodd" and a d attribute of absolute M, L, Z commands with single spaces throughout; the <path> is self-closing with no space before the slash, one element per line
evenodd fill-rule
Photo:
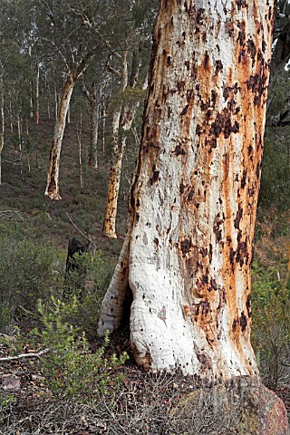
<path fill-rule="evenodd" d="M 65 129 L 65 121 L 75 82 L 76 77 L 73 75 L 73 73 L 71 73 L 64 82 L 62 97 L 53 132 L 45 195 L 51 199 L 56 200 L 61 199 L 58 183 L 59 165 L 62 150 L 63 133 Z"/>

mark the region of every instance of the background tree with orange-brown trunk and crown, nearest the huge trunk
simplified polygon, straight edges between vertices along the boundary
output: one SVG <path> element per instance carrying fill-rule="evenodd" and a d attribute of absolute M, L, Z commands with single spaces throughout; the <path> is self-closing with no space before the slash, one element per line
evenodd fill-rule
<path fill-rule="evenodd" d="M 139 1 L 123 0 L 118 5 L 111 2 L 107 16 L 111 17 L 111 34 L 106 45 L 109 50 L 106 68 L 118 83 L 111 103 L 111 168 L 107 207 L 105 211 L 103 232 L 106 236 L 116 238 L 117 202 L 121 182 L 121 165 L 128 131 L 136 116 L 136 111 L 143 100 L 142 84 L 146 80 L 147 62 L 142 53 L 143 45 L 151 34 L 157 2 L 151 0 L 143 5 Z M 114 7 L 114 13 L 111 12 Z M 124 22 L 116 20 L 119 11 L 125 11 Z M 119 14 L 118 14 L 119 12 Z M 110 19 L 109 23 L 110 25 Z M 140 71 L 142 67 L 142 71 Z M 136 92 L 133 92 L 135 90 Z"/>

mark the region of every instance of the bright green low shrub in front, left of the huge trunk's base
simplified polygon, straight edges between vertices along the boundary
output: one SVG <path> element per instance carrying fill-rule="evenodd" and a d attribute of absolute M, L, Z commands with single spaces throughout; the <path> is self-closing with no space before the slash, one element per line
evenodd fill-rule
<path fill-rule="evenodd" d="M 106 358 L 108 336 L 95 353 L 90 352 L 85 333 L 80 333 L 80 328 L 65 320 L 72 307 L 53 296 L 48 309 L 41 301 L 37 309 L 42 328 L 35 328 L 31 337 L 34 344 L 49 349 L 40 358 L 39 365 L 55 396 L 72 399 L 82 394 L 88 401 L 96 391 L 106 391 L 109 382 L 118 382 L 112 372 L 127 360 L 127 353 Z"/>

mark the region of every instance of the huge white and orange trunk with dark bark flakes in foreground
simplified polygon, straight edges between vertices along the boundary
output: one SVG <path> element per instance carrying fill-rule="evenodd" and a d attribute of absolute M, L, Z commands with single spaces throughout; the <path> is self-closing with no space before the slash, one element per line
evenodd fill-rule
<path fill-rule="evenodd" d="M 99 333 L 151 370 L 257 372 L 251 263 L 273 0 L 161 0 L 128 234 Z"/>

